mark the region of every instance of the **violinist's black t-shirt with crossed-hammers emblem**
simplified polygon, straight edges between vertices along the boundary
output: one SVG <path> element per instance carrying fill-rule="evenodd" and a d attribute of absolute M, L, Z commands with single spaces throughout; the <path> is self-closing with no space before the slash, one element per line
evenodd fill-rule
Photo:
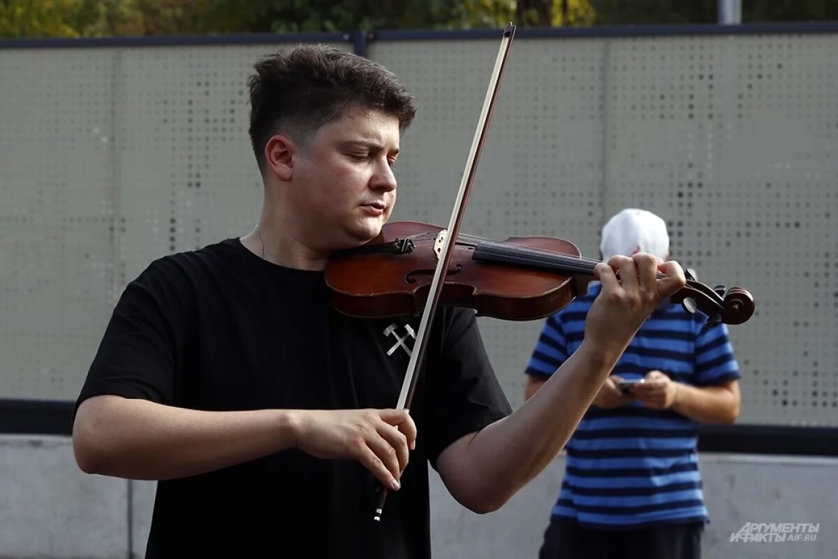
<path fill-rule="evenodd" d="M 330 307 L 323 272 L 229 239 L 164 256 L 127 285 L 76 406 L 116 394 L 210 411 L 395 407 L 418 323 L 349 318 Z M 470 309 L 437 310 L 426 364 L 416 449 L 380 522 L 363 465 L 292 449 L 158 482 L 147 556 L 430 556 L 427 463 L 510 405 Z"/>

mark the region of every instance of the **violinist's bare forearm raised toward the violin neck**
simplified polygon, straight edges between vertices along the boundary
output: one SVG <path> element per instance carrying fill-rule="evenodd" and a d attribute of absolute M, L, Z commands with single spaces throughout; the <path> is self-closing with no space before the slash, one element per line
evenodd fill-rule
<path fill-rule="evenodd" d="M 518 410 L 458 442 L 462 448 L 450 448 L 451 467 L 444 474 L 453 496 L 472 510 L 495 510 L 541 473 L 576 429 L 618 356 L 583 344 Z"/>

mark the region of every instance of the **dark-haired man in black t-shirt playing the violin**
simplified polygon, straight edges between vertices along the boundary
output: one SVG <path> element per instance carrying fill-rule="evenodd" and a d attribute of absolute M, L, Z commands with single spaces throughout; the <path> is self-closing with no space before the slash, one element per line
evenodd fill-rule
<path fill-rule="evenodd" d="M 158 480 L 149 557 L 428 557 L 426 463 L 468 509 L 504 505 L 684 274 L 646 254 L 598 265 L 585 343 L 515 412 L 473 310 L 441 308 L 411 409 L 393 409 L 419 317 L 338 313 L 323 271 L 390 218 L 414 101 L 380 65 L 323 47 L 260 60 L 249 85 L 258 224 L 127 285 L 78 398 L 76 460 Z"/>

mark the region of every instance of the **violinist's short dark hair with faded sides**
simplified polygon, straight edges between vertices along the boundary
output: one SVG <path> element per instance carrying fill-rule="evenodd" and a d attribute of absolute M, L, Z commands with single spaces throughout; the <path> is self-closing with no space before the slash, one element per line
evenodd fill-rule
<path fill-rule="evenodd" d="M 390 70 L 333 47 L 297 46 L 262 58 L 254 69 L 247 82 L 249 133 L 262 170 L 265 144 L 279 132 L 306 148 L 320 127 L 356 107 L 398 117 L 401 132 L 416 115 L 413 97 Z"/>

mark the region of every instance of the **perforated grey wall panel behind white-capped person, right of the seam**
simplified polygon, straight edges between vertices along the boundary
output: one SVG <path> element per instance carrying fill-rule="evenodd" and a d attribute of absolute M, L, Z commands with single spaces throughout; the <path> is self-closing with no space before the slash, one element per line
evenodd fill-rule
<path fill-rule="evenodd" d="M 608 213 L 670 225 L 673 258 L 741 285 L 742 421 L 838 425 L 834 35 L 620 39 L 608 49 Z"/>

